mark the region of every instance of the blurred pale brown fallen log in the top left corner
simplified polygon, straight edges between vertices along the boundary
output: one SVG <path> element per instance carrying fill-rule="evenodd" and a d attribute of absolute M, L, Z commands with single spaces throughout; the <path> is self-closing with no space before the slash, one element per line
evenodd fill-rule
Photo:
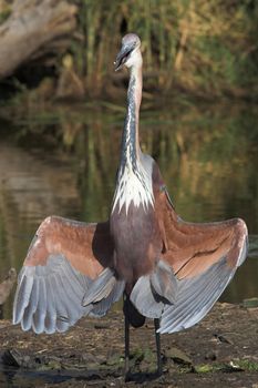
<path fill-rule="evenodd" d="M 76 12 L 65 0 L 14 0 L 0 25 L 0 80 L 27 62 L 63 52 L 76 27 Z"/>

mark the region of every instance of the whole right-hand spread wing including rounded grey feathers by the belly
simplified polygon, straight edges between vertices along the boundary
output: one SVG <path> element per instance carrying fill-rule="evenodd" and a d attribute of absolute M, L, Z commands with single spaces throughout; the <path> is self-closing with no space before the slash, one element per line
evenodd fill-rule
<path fill-rule="evenodd" d="M 154 272 L 137 280 L 131 300 L 143 315 L 161 317 L 161 333 L 174 333 L 199 321 L 221 295 L 246 258 L 247 227 L 239 218 L 186 223 L 164 190 L 155 211 L 163 252 Z"/>

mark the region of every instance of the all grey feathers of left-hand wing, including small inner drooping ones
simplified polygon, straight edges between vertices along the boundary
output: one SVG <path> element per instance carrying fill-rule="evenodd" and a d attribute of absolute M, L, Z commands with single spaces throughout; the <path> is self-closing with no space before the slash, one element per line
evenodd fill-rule
<path fill-rule="evenodd" d="M 13 304 L 13 324 L 37 334 L 65 331 L 82 316 L 104 315 L 120 299 L 124 282 L 110 268 L 92 280 L 63 255 L 51 255 L 45 266 L 23 266 Z M 87 302 L 83 306 L 83 300 Z"/>

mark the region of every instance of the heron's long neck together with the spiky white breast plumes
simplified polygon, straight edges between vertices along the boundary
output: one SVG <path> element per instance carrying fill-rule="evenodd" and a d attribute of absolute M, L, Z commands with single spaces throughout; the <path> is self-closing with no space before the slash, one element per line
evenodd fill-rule
<path fill-rule="evenodd" d="M 124 123 L 120 170 L 116 178 L 116 188 L 113 200 L 112 213 L 117 208 L 121 212 L 125 206 L 143 206 L 147 211 L 153 206 L 152 165 L 143 165 L 138 143 L 138 113 L 142 100 L 142 54 L 131 68 L 127 92 L 127 113 Z M 118 207 L 116 207 L 118 206 Z"/>

